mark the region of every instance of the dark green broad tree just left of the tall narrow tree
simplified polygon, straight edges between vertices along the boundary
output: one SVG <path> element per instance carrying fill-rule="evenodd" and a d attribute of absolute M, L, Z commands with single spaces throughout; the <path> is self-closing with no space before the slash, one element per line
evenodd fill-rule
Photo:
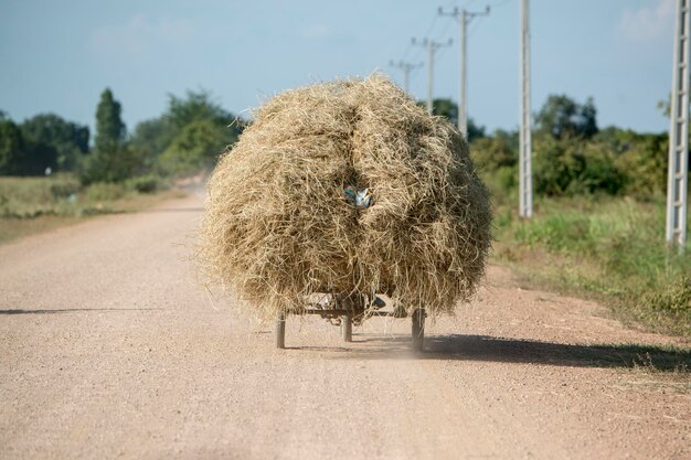
<path fill-rule="evenodd" d="M 88 127 L 81 126 L 54 114 L 36 115 L 21 125 L 22 136 L 42 148 L 56 151 L 60 170 L 74 170 L 88 152 Z"/>

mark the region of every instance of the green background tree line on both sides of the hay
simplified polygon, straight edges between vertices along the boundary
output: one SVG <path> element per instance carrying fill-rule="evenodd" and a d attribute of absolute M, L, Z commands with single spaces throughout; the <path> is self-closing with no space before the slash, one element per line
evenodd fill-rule
<path fill-rule="evenodd" d="M 436 115 L 456 122 L 457 105 L 434 100 Z M 82 183 L 119 182 L 146 174 L 178 175 L 212 168 L 234 143 L 245 121 L 216 104 L 204 90 L 169 95 L 166 111 L 139 122 L 131 132 L 121 105 L 106 88 L 96 107 L 96 133 L 54 114 L 21 124 L 0 111 L 0 175 L 41 175 L 46 169 L 76 173 Z M 496 192 L 518 188 L 518 130 L 491 133 L 468 122 L 468 141 L 477 167 Z M 578 103 L 551 95 L 534 114 L 533 183 L 535 193 L 575 195 L 663 194 L 667 186 L 667 133 L 638 133 L 597 125 L 593 99 Z"/>

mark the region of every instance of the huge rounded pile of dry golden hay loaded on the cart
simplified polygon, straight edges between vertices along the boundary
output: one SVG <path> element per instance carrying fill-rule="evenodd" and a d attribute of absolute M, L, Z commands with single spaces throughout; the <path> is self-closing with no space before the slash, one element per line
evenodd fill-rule
<path fill-rule="evenodd" d="M 467 143 L 381 75 L 272 98 L 208 188 L 202 268 L 263 318 L 325 291 L 449 312 L 485 271 L 491 211 Z"/>

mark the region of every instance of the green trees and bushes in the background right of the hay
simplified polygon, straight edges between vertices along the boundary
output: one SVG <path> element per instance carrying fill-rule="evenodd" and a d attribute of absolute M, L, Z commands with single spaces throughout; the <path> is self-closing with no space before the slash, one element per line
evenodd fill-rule
<path fill-rule="evenodd" d="M 456 121 L 456 105 L 434 104 L 437 115 Z M 550 95 L 533 115 L 533 188 L 536 194 L 573 196 L 625 194 L 648 200 L 667 190 L 668 135 L 639 133 L 617 127 L 600 129 L 592 98 L 578 103 Z M 518 189 L 519 132 L 487 133 L 468 122 L 470 153 L 495 194 Z"/>

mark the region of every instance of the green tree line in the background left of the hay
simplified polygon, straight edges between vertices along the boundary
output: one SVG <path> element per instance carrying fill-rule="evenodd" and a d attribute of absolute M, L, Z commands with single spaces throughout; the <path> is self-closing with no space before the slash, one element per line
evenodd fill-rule
<path fill-rule="evenodd" d="M 106 88 L 96 107 L 93 145 L 87 126 L 55 114 L 17 124 L 0 111 L 0 175 L 72 172 L 89 184 L 194 173 L 213 167 L 244 126 L 204 90 L 169 95 L 166 111 L 138 124 L 131 133 L 121 111 L 121 104 Z"/>

